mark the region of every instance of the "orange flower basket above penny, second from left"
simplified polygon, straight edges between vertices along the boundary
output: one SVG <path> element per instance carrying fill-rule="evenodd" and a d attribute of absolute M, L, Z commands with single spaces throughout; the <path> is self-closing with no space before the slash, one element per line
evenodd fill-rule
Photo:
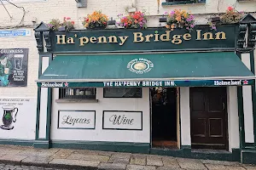
<path fill-rule="evenodd" d="M 102 14 L 101 11 L 94 11 L 92 14 L 88 14 L 84 18 L 83 25 L 85 28 L 101 30 L 105 29 L 108 25 L 108 16 Z"/>

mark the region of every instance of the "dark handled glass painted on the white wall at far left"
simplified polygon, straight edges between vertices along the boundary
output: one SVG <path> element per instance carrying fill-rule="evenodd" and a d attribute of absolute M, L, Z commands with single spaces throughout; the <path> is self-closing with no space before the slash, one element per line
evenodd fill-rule
<path fill-rule="evenodd" d="M 16 122 L 16 116 L 18 113 L 18 108 L 13 105 L 3 105 L 3 125 L 0 127 L 4 130 L 11 130 L 14 128 L 12 126 L 13 122 Z"/>

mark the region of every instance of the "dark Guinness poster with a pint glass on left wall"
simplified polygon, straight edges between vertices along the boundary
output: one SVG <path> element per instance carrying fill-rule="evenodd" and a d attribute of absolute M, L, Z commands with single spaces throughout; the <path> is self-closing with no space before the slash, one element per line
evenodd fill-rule
<path fill-rule="evenodd" d="M 0 87 L 26 87 L 28 48 L 0 48 Z"/>

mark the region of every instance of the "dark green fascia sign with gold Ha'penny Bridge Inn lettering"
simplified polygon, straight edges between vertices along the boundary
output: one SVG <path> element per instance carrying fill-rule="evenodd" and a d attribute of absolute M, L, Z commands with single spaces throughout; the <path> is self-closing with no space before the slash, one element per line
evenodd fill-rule
<path fill-rule="evenodd" d="M 89 53 L 234 49 L 234 35 L 236 25 L 218 26 L 217 31 L 212 31 L 209 26 L 196 26 L 191 32 L 164 28 L 53 32 L 53 51 Z"/>

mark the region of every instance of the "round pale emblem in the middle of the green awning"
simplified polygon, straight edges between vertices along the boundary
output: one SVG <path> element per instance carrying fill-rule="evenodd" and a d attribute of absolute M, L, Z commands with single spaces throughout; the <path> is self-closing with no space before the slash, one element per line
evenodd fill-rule
<path fill-rule="evenodd" d="M 142 58 L 132 59 L 127 65 L 129 71 L 137 74 L 143 74 L 144 72 L 151 71 L 153 67 L 154 64 L 150 60 Z"/>

